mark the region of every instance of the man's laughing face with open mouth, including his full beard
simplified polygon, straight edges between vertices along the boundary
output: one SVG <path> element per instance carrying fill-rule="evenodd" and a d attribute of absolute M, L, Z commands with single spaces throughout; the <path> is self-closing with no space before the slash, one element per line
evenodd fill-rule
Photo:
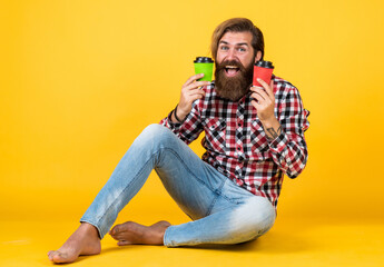
<path fill-rule="evenodd" d="M 240 99 L 252 85 L 254 62 L 252 33 L 226 32 L 219 40 L 216 56 L 217 93 L 233 101 Z"/>

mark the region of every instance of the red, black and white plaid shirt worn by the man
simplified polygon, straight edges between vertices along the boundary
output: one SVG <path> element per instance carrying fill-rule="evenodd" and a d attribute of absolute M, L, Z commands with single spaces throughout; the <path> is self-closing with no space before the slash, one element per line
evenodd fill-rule
<path fill-rule="evenodd" d="M 171 112 L 160 123 L 187 145 L 205 131 L 203 160 L 256 196 L 266 197 L 276 208 L 283 174 L 297 177 L 307 161 L 304 131 L 309 111 L 303 108 L 298 90 L 273 77 L 275 116 L 282 134 L 268 141 L 250 92 L 237 102 L 223 99 L 215 83 L 203 88 L 206 96 L 196 100 L 184 123 L 174 123 Z"/>

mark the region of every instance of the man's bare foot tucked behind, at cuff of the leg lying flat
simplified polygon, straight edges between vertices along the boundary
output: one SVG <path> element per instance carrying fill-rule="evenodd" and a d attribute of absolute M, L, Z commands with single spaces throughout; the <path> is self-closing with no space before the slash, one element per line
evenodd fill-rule
<path fill-rule="evenodd" d="M 165 220 L 160 220 L 151 226 L 127 221 L 115 226 L 109 231 L 109 235 L 118 240 L 117 245 L 119 246 L 134 244 L 164 245 L 164 234 L 169 226 L 170 224 Z"/>

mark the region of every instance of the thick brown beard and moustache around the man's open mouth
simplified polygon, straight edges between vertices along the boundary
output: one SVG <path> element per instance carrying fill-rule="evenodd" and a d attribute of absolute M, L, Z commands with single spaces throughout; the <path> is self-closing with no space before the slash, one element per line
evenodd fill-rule
<path fill-rule="evenodd" d="M 227 77 L 225 73 L 225 66 L 238 67 L 238 73 L 235 77 Z M 248 89 L 252 85 L 253 75 L 253 63 L 250 63 L 246 68 L 240 62 L 235 60 L 216 63 L 215 89 L 217 91 L 217 95 L 232 101 L 238 101 L 248 92 Z"/>

